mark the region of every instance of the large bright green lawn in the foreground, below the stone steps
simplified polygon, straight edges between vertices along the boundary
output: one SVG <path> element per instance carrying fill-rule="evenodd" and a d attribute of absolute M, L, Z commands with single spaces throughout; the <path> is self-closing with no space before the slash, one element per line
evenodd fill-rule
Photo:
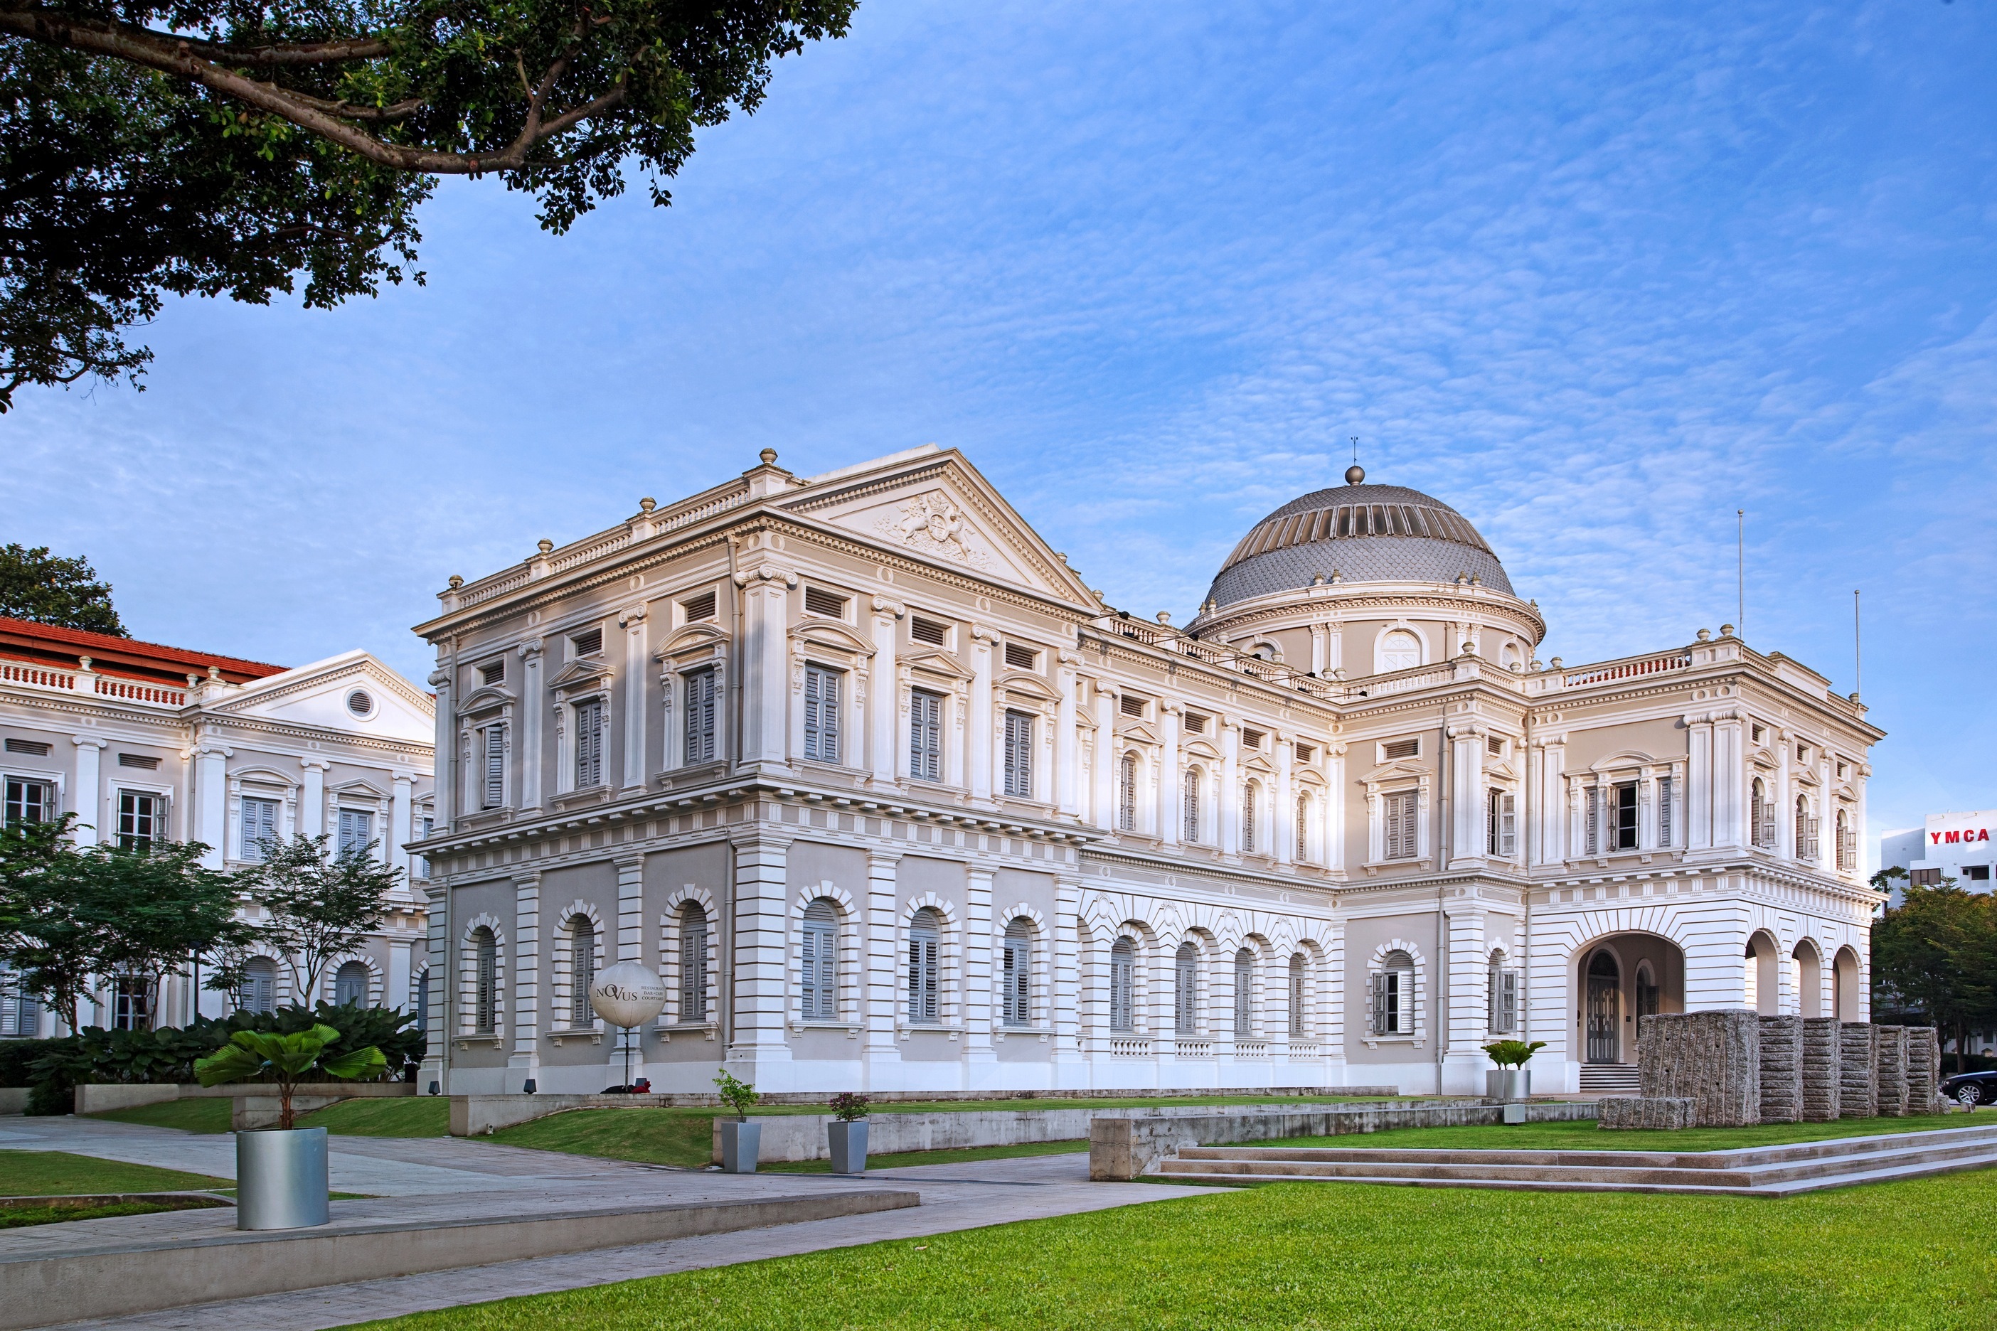
<path fill-rule="evenodd" d="M 1991 1327 L 1997 1187 L 1781 1201 L 1278 1183 L 419 1313 L 687 1327 Z"/>

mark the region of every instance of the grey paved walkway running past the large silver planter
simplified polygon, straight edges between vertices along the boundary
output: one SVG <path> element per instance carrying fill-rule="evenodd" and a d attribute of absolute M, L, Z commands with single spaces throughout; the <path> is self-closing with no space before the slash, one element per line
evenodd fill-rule
<path fill-rule="evenodd" d="M 1156 1183 L 1090 1183 L 1088 1155 L 1084 1153 L 1028 1155 L 969 1165 L 877 1169 L 869 1171 L 865 1181 L 861 1181 L 829 1173 L 727 1175 L 699 1169 L 667 1169 L 585 1155 L 561 1155 L 555 1151 L 527 1151 L 457 1137 L 332 1137 L 330 1145 L 335 1191 L 373 1191 L 385 1197 L 387 1187 L 379 1183 L 367 1185 L 361 1179 L 395 1183 L 395 1201 L 333 1203 L 335 1215 L 345 1211 L 355 1219 L 359 1219 L 361 1209 L 369 1213 L 381 1211 L 383 1217 L 399 1215 L 403 1221 L 413 1211 L 435 1215 L 465 1215 L 471 1211 L 531 1213 L 539 1207 L 585 1195 L 601 1199 L 605 1195 L 631 1195 L 637 1189 L 649 1197 L 693 1201 L 699 1197 L 799 1195 L 821 1187 L 851 1189 L 855 1183 L 913 1187 L 923 1195 L 923 1205 L 873 1215 L 673 1239 L 667 1243 L 607 1247 L 587 1253 L 563 1253 L 529 1261 L 505 1261 L 485 1267 L 304 1289 L 228 1303 L 202 1303 L 108 1321 L 64 1323 L 64 1331 L 110 1331 L 112 1327 L 120 1331 L 320 1331 L 322 1327 L 345 1327 L 375 1317 L 397 1317 L 437 1307 L 557 1289 L 581 1289 L 643 1275 L 695 1271 L 701 1267 L 733 1265 L 737 1261 L 789 1257 L 881 1239 L 979 1229 L 1018 1219 L 1074 1215 L 1080 1211 L 1170 1201 L 1190 1193 L 1216 1191 L 1202 1187 L 1160 1187 Z M 6 1117 L 0 1119 L 0 1147 L 62 1149 L 102 1155 L 106 1159 L 132 1159 L 174 1169 L 234 1175 L 232 1143 L 226 1135 L 202 1137 L 132 1123 L 72 1117 Z M 447 1185 L 449 1191 L 435 1193 L 427 1185 L 409 1185 L 407 1179 L 415 1175 L 403 1171 L 419 1171 L 425 1179 L 445 1175 L 453 1181 Z M 34 1229 L 16 1229 L 0 1237 L 0 1243 L 34 1231 L 68 1231 L 66 1245 L 70 1247 L 78 1245 L 80 1239 L 102 1243 L 114 1235 L 132 1241 L 142 1237 L 142 1233 L 150 1233 L 150 1227 L 162 1227 L 164 1231 L 164 1225 L 174 1225 L 186 1233 L 192 1217 L 216 1217 L 210 1223 L 220 1223 L 222 1217 L 232 1215 L 232 1211 L 176 1211 L 168 1215 L 36 1225 Z M 234 1223 L 234 1219 L 226 1223 Z M 92 1233 L 80 1233 L 86 1227 Z M 96 1233 L 100 1229 L 102 1233 Z M 36 1241 L 52 1239 L 40 1239 L 38 1235 Z"/>

